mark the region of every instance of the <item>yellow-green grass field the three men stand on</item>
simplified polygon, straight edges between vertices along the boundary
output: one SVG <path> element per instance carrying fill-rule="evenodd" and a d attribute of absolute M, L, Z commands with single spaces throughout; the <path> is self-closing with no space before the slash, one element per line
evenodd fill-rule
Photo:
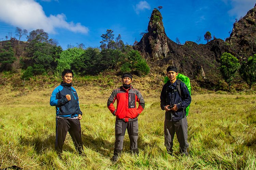
<path fill-rule="evenodd" d="M 139 116 L 139 156 L 129 153 L 126 134 L 124 153 L 112 163 L 115 117 L 106 107 L 112 89 L 76 88 L 85 155 L 76 154 L 67 135 L 62 159 L 54 152 L 55 107 L 49 105 L 53 89 L 2 89 L 0 169 L 13 165 L 24 169 L 256 169 L 255 94 L 192 95 L 187 118 L 189 156 L 182 157 L 176 137 L 174 155 L 166 152 L 160 92 L 151 95 L 142 90 L 146 105 Z"/>

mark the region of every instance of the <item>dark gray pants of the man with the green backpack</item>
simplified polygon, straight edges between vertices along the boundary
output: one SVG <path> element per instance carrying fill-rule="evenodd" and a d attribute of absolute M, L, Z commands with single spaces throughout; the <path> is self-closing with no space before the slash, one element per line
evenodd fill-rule
<path fill-rule="evenodd" d="M 168 153 L 172 153 L 173 138 L 176 132 L 180 143 L 180 153 L 188 155 L 187 148 L 187 118 L 186 116 L 178 121 L 165 120 L 165 146 Z"/>

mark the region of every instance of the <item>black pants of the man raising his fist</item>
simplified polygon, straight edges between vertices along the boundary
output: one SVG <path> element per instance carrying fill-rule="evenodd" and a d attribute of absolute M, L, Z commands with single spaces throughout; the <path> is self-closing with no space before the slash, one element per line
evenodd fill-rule
<path fill-rule="evenodd" d="M 66 119 L 66 118 L 56 118 L 56 141 L 55 150 L 58 154 L 62 153 L 63 144 L 69 132 L 75 149 L 79 154 L 83 153 L 83 143 L 81 135 L 81 125 L 78 119 Z"/>

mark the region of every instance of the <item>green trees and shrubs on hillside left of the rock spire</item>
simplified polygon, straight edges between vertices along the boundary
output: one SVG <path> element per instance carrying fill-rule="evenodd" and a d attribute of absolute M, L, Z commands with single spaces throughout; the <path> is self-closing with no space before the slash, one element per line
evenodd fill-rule
<path fill-rule="evenodd" d="M 33 30 L 27 36 L 29 44 L 20 58 L 22 79 L 29 80 L 34 75 L 59 75 L 64 69 L 72 69 L 77 75 L 97 75 L 106 70 L 130 71 L 136 75 L 146 75 L 150 71 L 146 60 L 132 46 L 125 45 L 119 34 L 114 41 L 112 30 L 102 34 L 101 49 L 83 44 L 62 50 L 56 40 L 49 39 L 42 29 Z M 12 69 L 16 60 L 10 43 L 0 51 L 0 71 Z"/>

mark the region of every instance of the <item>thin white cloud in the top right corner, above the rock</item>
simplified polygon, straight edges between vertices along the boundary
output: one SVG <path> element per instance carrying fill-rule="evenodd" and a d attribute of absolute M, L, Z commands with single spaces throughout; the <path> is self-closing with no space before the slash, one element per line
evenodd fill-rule
<path fill-rule="evenodd" d="M 223 0 L 225 3 L 227 0 Z M 246 15 L 255 5 L 255 0 L 230 0 L 232 9 L 228 11 L 230 16 L 236 16 L 240 18 Z"/>

